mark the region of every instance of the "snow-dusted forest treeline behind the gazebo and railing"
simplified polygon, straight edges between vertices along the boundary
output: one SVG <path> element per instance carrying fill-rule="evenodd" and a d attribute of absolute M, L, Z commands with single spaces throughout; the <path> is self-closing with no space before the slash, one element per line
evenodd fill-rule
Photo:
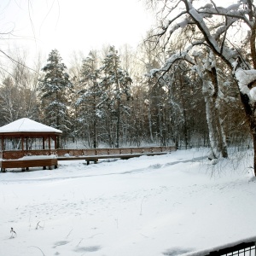
<path fill-rule="evenodd" d="M 61 148 L 68 140 L 82 141 L 88 148 L 209 146 L 206 96 L 199 74 L 184 61 L 177 61 L 165 77 L 150 74 L 165 63 L 166 56 L 183 48 L 185 38 L 181 38 L 168 48 L 145 40 L 137 49 L 124 45 L 91 50 L 88 55 L 76 52 L 68 67 L 57 49 L 47 60 L 34 57 L 32 65 L 26 51 L 15 52 L 15 62 L 5 60 L 1 69 L 0 125 L 23 117 L 50 125 L 63 131 Z M 225 140 L 247 144 L 239 91 L 230 71 L 217 61 Z"/>

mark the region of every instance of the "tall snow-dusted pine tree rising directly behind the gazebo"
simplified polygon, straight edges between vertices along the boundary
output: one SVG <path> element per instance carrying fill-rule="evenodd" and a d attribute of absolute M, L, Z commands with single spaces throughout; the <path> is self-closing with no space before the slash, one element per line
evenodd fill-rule
<path fill-rule="evenodd" d="M 62 63 L 57 49 L 49 53 L 48 63 L 43 67 L 44 78 L 39 80 L 38 90 L 41 100 L 41 114 L 44 124 L 63 131 L 63 137 L 68 133 L 68 95 L 73 84 L 65 72 L 66 66 Z M 57 147 L 60 147 L 58 143 Z"/>

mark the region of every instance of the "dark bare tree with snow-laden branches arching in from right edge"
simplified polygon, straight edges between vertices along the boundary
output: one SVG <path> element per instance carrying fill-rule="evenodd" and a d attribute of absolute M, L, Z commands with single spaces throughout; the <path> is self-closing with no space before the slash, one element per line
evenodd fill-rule
<path fill-rule="evenodd" d="M 254 145 L 254 174 L 256 175 L 256 14 L 252 0 L 239 1 L 228 7 L 218 7 L 210 1 L 149 1 L 159 3 L 160 29 L 155 34 L 157 43 L 163 35 L 166 45 L 177 31 L 190 27 L 194 32 L 187 43 L 186 52 L 198 48 L 211 49 L 217 58 L 230 69 L 236 80 L 241 103 L 247 117 Z M 201 4 L 200 4 L 201 3 Z M 247 27 L 247 28 L 245 28 Z M 236 44 L 240 37 L 242 44 L 249 44 L 247 55 Z M 172 58 L 170 58 L 172 59 Z M 160 71 L 164 74 L 171 68 L 170 59 Z"/>

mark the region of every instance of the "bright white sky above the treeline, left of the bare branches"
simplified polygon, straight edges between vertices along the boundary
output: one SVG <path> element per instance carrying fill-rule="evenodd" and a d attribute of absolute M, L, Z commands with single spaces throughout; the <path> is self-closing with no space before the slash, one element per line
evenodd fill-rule
<path fill-rule="evenodd" d="M 1 0 L 1 32 L 14 29 L 10 42 L 48 55 L 58 49 L 63 59 L 73 50 L 136 46 L 153 23 L 139 0 Z M 3 49 L 3 43 L 2 43 Z"/>

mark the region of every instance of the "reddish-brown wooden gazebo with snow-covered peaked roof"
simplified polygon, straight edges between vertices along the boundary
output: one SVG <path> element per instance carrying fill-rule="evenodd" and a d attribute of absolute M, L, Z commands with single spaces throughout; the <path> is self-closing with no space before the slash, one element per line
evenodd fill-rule
<path fill-rule="evenodd" d="M 32 119 L 18 119 L 0 127 L 0 166 L 6 168 L 58 166 L 57 137 L 62 131 Z"/>

